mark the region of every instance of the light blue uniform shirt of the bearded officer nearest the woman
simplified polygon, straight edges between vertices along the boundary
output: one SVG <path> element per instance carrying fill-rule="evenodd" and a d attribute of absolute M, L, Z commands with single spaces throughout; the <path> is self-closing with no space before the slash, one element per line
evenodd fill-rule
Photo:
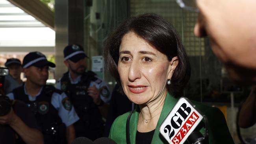
<path fill-rule="evenodd" d="M 78 76 L 75 80 L 73 80 L 71 78 L 70 72 L 69 72 L 69 80 L 71 84 L 77 84 L 80 82 L 82 75 Z M 109 92 L 109 88 L 108 85 L 106 85 L 106 83 L 104 81 L 102 81 L 100 78 L 98 78 L 97 76 L 95 76 L 97 79 L 95 81 L 91 81 L 89 87 L 92 87 L 93 85 L 95 85 L 95 87 L 97 89 L 100 90 L 100 98 L 103 102 L 109 104 L 110 102 L 110 98 L 111 98 L 111 94 Z M 56 88 L 61 90 L 61 81 L 59 80 Z"/>

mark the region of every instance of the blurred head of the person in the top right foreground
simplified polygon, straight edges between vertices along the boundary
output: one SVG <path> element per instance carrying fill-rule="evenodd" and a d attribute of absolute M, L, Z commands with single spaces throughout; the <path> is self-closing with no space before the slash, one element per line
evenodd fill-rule
<path fill-rule="evenodd" d="M 239 85 L 256 84 L 256 1 L 196 0 L 194 33 L 208 36 L 214 54 Z"/>

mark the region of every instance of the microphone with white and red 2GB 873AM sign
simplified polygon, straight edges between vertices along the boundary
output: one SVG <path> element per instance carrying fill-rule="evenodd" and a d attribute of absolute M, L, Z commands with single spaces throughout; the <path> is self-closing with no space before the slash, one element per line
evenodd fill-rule
<path fill-rule="evenodd" d="M 204 119 L 204 136 L 194 131 Z M 187 98 L 181 97 L 165 118 L 159 131 L 169 144 L 208 144 L 207 118 Z"/>

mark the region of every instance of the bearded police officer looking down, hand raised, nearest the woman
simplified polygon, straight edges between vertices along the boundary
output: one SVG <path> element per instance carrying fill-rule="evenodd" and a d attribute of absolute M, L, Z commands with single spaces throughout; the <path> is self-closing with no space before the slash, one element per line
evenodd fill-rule
<path fill-rule="evenodd" d="M 92 71 L 86 70 L 86 57 L 82 46 L 71 44 L 64 49 L 64 63 L 69 71 L 57 83 L 74 104 L 80 120 L 74 124 L 77 137 L 95 140 L 102 137 L 108 103 L 109 89 Z M 88 58 L 88 57 L 87 57 Z"/>

